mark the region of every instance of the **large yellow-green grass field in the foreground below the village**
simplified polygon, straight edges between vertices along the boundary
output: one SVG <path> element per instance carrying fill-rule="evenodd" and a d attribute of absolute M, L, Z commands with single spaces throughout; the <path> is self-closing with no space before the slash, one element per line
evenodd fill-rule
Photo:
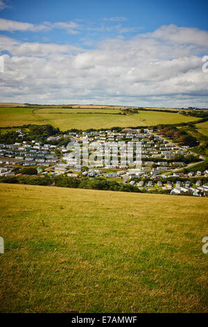
<path fill-rule="evenodd" d="M 207 198 L 0 191 L 0 312 L 207 312 Z"/>

